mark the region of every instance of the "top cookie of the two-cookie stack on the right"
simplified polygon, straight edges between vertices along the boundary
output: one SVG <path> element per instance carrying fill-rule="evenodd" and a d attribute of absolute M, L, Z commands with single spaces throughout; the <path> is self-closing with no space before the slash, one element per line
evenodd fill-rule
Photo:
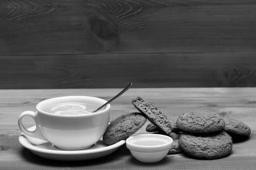
<path fill-rule="evenodd" d="M 181 114 L 176 125 L 180 130 L 192 133 L 209 133 L 222 130 L 225 122 L 213 111 L 196 110 Z"/>

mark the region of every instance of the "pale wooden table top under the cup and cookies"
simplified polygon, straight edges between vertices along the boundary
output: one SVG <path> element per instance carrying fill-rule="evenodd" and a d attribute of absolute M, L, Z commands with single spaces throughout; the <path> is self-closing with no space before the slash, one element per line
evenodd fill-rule
<path fill-rule="evenodd" d="M 161 169 L 161 170 L 255 170 L 256 169 L 256 88 L 131 88 L 111 104 L 111 120 L 137 111 L 131 100 L 141 96 L 168 118 L 177 119 L 185 111 L 207 109 L 221 116 L 238 119 L 251 128 L 248 139 L 233 143 L 232 153 L 222 159 L 195 159 L 184 153 L 168 155 L 157 163 L 142 163 L 122 145 L 116 152 L 89 161 L 54 161 L 36 156 L 18 142 L 21 131 L 17 119 L 21 112 L 35 110 L 44 99 L 57 96 L 87 95 L 111 99 L 121 89 L 0 90 L 0 169 Z M 136 134 L 147 133 L 146 124 Z M 25 120 L 26 127 L 33 122 Z"/>

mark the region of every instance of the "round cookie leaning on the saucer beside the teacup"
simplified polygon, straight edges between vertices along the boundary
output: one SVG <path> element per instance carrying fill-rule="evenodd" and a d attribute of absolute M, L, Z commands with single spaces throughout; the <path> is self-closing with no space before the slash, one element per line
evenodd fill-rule
<path fill-rule="evenodd" d="M 129 113 L 113 119 L 107 127 L 102 139 L 105 144 L 111 145 L 127 139 L 137 132 L 146 122 L 142 113 Z"/>

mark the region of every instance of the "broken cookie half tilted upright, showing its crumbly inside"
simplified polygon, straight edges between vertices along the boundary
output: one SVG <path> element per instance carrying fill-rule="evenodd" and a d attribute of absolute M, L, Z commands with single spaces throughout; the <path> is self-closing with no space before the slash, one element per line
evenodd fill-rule
<path fill-rule="evenodd" d="M 167 135 L 172 132 L 172 128 L 167 117 L 158 110 L 153 104 L 137 97 L 131 102 L 138 111 L 145 114 L 147 119 L 155 125 L 157 128 L 161 129 Z"/>

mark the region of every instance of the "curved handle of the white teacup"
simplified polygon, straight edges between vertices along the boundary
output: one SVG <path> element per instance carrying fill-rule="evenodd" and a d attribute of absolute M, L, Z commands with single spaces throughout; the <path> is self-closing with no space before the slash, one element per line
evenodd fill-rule
<path fill-rule="evenodd" d="M 30 116 L 34 121 L 35 121 L 35 125 L 36 125 L 36 129 L 34 131 L 30 131 L 30 130 L 27 130 L 24 125 L 23 125 L 23 122 L 22 122 L 22 119 L 25 117 L 25 116 Z M 23 113 L 20 114 L 19 116 L 19 119 L 18 119 L 18 125 L 20 127 L 20 130 L 27 136 L 30 136 L 30 137 L 33 137 L 33 138 L 38 138 L 38 139 L 42 139 L 42 140 L 47 140 L 45 137 L 44 137 L 44 134 L 42 133 L 39 125 L 38 125 L 38 122 L 37 122 L 37 119 L 36 119 L 36 113 L 33 112 L 33 111 L 24 111 Z"/>

